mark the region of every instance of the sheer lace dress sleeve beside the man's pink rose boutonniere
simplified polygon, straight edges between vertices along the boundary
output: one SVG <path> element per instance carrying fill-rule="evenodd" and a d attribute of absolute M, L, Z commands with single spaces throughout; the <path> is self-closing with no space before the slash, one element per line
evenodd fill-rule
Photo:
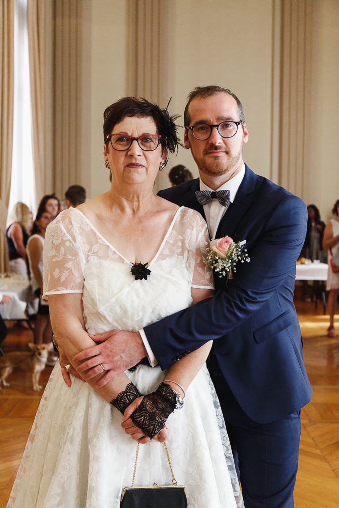
<path fill-rule="evenodd" d="M 181 224 L 185 227 L 182 236 L 188 249 L 188 262 L 192 267 L 191 287 L 214 289 L 213 272 L 206 262 L 206 243 L 209 241 L 207 224 L 200 213 L 190 208 L 183 210 Z"/>

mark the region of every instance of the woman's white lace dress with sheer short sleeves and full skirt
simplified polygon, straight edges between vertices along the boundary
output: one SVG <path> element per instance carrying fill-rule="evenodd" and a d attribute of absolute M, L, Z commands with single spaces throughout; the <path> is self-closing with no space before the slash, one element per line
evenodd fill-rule
<path fill-rule="evenodd" d="M 77 209 L 60 213 L 45 237 L 45 295 L 82 293 L 86 329 L 137 331 L 191 305 L 191 288 L 213 288 L 205 263 L 207 230 L 194 210 L 178 209 L 150 262 L 147 280 Z M 161 337 L 159 337 L 161 340 Z M 139 391 L 165 378 L 159 366 L 127 371 Z M 168 421 L 167 446 L 175 478 L 190 508 L 242 506 L 219 401 L 204 366 L 181 410 Z M 121 414 L 87 383 L 68 388 L 57 364 L 28 438 L 8 508 L 117 508 L 130 486 L 137 443 L 121 428 Z M 140 446 L 135 485 L 171 485 L 164 446 Z"/>

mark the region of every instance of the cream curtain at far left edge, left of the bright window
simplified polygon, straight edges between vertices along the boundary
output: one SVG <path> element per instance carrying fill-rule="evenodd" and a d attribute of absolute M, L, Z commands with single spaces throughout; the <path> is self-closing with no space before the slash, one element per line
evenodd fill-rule
<path fill-rule="evenodd" d="M 0 274 L 10 271 L 5 239 L 11 192 L 14 107 L 14 0 L 0 2 Z"/>

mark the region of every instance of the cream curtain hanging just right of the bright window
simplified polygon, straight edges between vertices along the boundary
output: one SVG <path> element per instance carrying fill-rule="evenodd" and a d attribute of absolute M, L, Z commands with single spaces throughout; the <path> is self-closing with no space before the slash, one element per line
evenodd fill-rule
<path fill-rule="evenodd" d="M 45 0 L 27 2 L 29 84 L 37 206 L 45 194 L 46 6 Z"/>

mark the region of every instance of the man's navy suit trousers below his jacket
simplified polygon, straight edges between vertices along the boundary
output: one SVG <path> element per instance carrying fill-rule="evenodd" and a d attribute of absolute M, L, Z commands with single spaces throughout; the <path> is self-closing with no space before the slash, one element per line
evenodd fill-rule
<path fill-rule="evenodd" d="M 209 372 L 223 410 L 245 508 L 293 508 L 300 410 L 282 420 L 257 423 L 241 409 L 213 351 Z"/>

